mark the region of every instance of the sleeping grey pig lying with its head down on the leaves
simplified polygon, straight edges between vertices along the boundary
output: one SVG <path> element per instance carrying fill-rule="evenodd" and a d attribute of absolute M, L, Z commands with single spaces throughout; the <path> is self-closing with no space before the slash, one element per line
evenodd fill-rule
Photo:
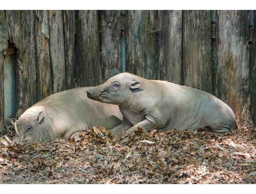
<path fill-rule="evenodd" d="M 118 106 L 87 98 L 91 87 L 80 87 L 52 94 L 27 109 L 18 120 L 11 119 L 16 136 L 13 143 L 49 142 L 68 139 L 75 132 L 94 125 L 112 129 L 122 122 Z"/>

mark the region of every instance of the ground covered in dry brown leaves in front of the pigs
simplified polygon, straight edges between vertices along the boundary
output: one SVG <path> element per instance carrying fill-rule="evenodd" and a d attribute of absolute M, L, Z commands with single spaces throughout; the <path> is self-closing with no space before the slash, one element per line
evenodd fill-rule
<path fill-rule="evenodd" d="M 3 136 L 0 183 L 255 184 L 256 127 L 247 118 L 237 122 L 225 135 L 205 129 L 112 135 L 93 127 L 68 141 L 26 146 L 9 146 Z M 10 125 L 4 131 L 15 134 Z"/>

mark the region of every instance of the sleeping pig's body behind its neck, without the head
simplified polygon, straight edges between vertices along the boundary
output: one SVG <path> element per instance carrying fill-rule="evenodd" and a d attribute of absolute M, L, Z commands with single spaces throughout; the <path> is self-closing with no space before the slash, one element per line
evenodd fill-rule
<path fill-rule="evenodd" d="M 86 90 L 91 87 L 74 88 L 52 94 L 34 106 L 42 106 L 55 123 L 72 126 L 86 122 L 88 128 L 99 125 L 109 129 L 122 121 L 122 113 L 117 105 L 88 99 Z M 33 107 L 34 107 L 33 106 Z"/>

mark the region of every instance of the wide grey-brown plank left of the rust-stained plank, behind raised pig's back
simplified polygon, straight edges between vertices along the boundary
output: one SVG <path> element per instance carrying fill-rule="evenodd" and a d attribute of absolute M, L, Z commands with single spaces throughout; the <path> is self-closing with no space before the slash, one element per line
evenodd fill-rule
<path fill-rule="evenodd" d="M 183 30 L 184 85 L 211 93 L 210 10 L 183 11 Z"/>

